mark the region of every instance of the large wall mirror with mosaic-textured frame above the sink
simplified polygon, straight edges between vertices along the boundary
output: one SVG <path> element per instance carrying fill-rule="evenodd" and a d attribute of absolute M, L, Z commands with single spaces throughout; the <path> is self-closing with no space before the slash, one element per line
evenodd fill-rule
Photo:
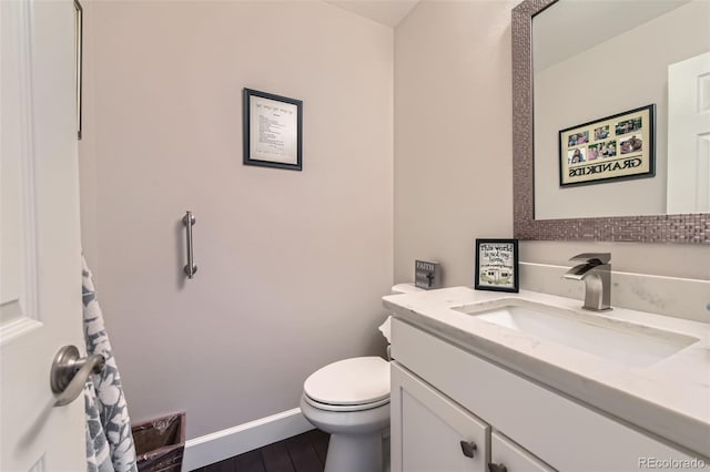
<path fill-rule="evenodd" d="M 594 54 L 601 47 L 609 47 L 613 38 L 592 43 L 584 41 L 591 40 L 598 32 L 611 31 L 611 35 L 619 37 L 619 33 L 627 34 L 633 30 L 648 24 L 665 20 L 663 17 L 678 16 L 684 9 L 708 8 L 707 2 L 693 2 L 678 0 L 672 2 L 652 2 L 660 6 L 660 9 L 647 12 L 648 16 L 641 18 L 639 28 L 631 27 L 628 21 L 615 22 L 609 20 L 616 18 L 609 12 L 601 12 L 601 17 L 608 21 L 600 28 L 600 20 L 590 20 L 597 12 L 586 11 L 584 19 L 575 19 L 575 14 L 568 7 L 585 8 L 594 6 L 596 10 L 608 7 L 619 8 L 620 4 L 633 4 L 638 2 L 579 2 L 560 0 L 526 0 L 517 6 L 513 11 L 513 150 L 514 150 L 514 222 L 515 236 L 519 239 L 592 239 L 592 240 L 626 240 L 646 243 L 710 243 L 710 214 L 708 213 L 679 213 L 686 212 L 683 208 L 674 208 L 669 205 L 670 196 L 667 198 L 666 184 L 669 174 L 672 174 L 672 163 L 667 158 L 668 138 L 668 90 L 667 71 L 668 63 L 655 64 L 652 68 L 666 75 L 651 81 L 648 79 L 645 68 L 649 61 L 645 58 L 660 55 L 660 50 L 670 50 L 667 43 L 673 45 L 677 41 L 667 41 L 666 38 L 676 38 L 667 31 L 659 37 L 649 39 L 645 44 L 640 41 L 641 52 L 631 51 L 630 44 L 633 42 L 629 37 L 623 38 L 622 47 L 611 44 L 615 53 L 610 50 L 600 53 L 605 58 L 621 57 L 632 60 L 642 60 L 643 66 L 635 65 L 632 60 L 626 61 L 631 64 L 631 70 L 622 70 L 625 61 L 617 64 L 615 60 L 601 61 Z M 567 6 L 569 3 L 569 6 Z M 551 7 L 552 8 L 549 8 Z M 557 10 L 561 8 L 561 10 Z M 707 11 L 707 10 L 706 10 Z M 544 12 L 544 13 L 541 13 Z M 541 14 L 539 14 L 541 13 Z M 556 27 L 552 30 L 565 34 L 564 28 L 569 28 L 566 33 L 568 38 L 580 37 L 581 42 L 574 40 L 562 40 L 559 38 L 548 41 L 568 47 L 567 51 L 556 48 L 557 57 L 551 53 L 551 49 L 542 52 L 532 43 L 536 37 L 546 40 L 546 37 L 536 24 L 534 17 L 540 27 L 546 21 L 551 20 Z M 549 17 L 548 17 L 549 14 Z M 560 20 L 555 16 L 562 14 Z M 619 14 L 619 12 L 617 12 Z M 626 18 L 627 13 L 620 13 L 620 18 Z M 707 14 L 697 16 L 700 21 L 707 24 Z M 592 28 L 591 25 L 599 25 Z M 562 27 L 564 25 L 564 27 Z M 678 53 L 669 52 L 672 58 L 687 59 L 694 53 L 707 52 L 708 29 L 690 29 L 696 31 L 696 37 L 701 37 L 701 45 L 690 47 L 690 50 Z M 699 31 L 699 32 L 698 32 Z M 594 32 L 594 34 L 592 34 Z M 659 38 L 663 38 L 659 41 Z M 696 38 L 697 40 L 697 38 Z M 639 41 L 636 40 L 638 43 Z M 660 44 L 662 43 L 662 44 Z M 694 48 L 694 49 L 693 49 Z M 703 51 L 704 49 L 704 51 Z M 534 51 L 536 53 L 534 54 Z M 579 54 L 582 51 L 584 54 Z M 690 52 L 689 52 L 690 51 Z M 571 55 L 570 55 L 571 52 Z M 673 55 L 674 54 L 674 55 Z M 534 63 L 535 57 L 535 63 Z M 671 59 L 670 62 L 676 62 Z M 539 61 L 538 61 L 539 60 Z M 538 63 L 539 62 L 539 63 Z M 555 69 L 569 66 L 577 62 L 577 68 L 582 68 L 577 73 L 566 71 L 565 78 L 550 78 Z M 618 61 L 617 61 L 618 62 Z M 606 70 L 600 66 L 609 66 Z M 560 65 L 561 64 L 561 65 Z M 649 65 L 650 66 L 650 65 Z M 617 72 L 618 71 L 618 72 Z M 574 78 L 570 80 L 569 78 Z M 611 82 L 601 82 L 600 78 L 611 78 Z M 621 80 L 627 78 L 630 80 Z M 590 79 L 598 79 L 591 80 Z M 555 82 L 556 81 L 556 82 Z M 630 82 L 630 83 L 628 83 Z M 659 82 L 660 85 L 656 84 Z M 539 84 L 539 91 L 532 89 Z M 642 86 L 637 86 L 636 84 Z M 649 88 L 653 83 L 655 92 L 639 92 Z M 556 85 L 551 85 L 556 84 Z M 555 93 L 547 93 L 550 88 Z M 660 88 L 660 92 L 658 89 Z M 710 85 L 706 88 L 708 90 Z M 568 95 L 564 95 L 567 93 Z M 653 94 L 656 93 L 656 94 Z M 636 94 L 636 95 L 635 95 Z M 709 92 L 710 95 L 710 92 Z M 547 98 L 546 98 L 547 96 Z M 608 99 L 606 102 L 601 98 Z M 643 101 L 645 103 L 639 103 Z M 648 102 L 648 103 L 646 103 Z M 535 107 L 532 104 L 535 103 Z M 559 131 L 575 125 L 594 122 L 630 109 L 655 103 L 657 105 L 657 148 L 656 148 L 656 175 L 648 178 L 638 179 L 615 179 L 594 185 L 580 185 L 572 187 L 560 187 L 560 150 Z M 710 107 L 710 105 L 708 105 Z M 534 134 L 535 130 L 535 134 Z M 660 135 L 662 133 L 662 135 Z M 693 146 L 696 144 L 693 143 Z M 708 152 L 710 154 L 710 152 Z M 691 158 L 696 156 L 691 155 Z M 710 175 L 710 172 L 709 172 Z M 537 192 L 536 192 L 536 186 Z M 686 187 L 688 185 L 684 185 Z M 655 187 L 653 191 L 650 188 Z M 547 192 L 547 194 L 546 194 Z M 655 192 L 655 193 L 651 193 Z M 608 205 L 604 206 L 604 201 Z M 668 199 L 668 202 L 667 202 Z M 620 205 L 626 202 L 625 205 Z M 547 205 L 547 207 L 545 206 Z M 670 208 L 670 213 L 667 212 Z M 696 209 L 689 212 L 700 212 Z M 702 209 L 701 209 L 702 211 Z"/>

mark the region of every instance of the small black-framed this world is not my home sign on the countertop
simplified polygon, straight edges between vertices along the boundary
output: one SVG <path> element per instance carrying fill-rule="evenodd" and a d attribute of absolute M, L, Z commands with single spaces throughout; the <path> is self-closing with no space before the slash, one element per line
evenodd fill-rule
<path fill-rule="evenodd" d="M 476 239 L 476 290 L 519 291 L 518 239 Z"/>

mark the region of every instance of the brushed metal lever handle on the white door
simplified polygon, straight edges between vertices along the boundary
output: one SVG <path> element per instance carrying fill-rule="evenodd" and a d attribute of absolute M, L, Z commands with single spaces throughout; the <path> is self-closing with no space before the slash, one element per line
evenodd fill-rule
<path fill-rule="evenodd" d="M 103 369 L 105 359 L 101 355 L 79 357 L 75 346 L 64 346 L 54 356 L 49 384 L 59 393 L 54 407 L 63 407 L 79 397 L 91 373 Z"/>

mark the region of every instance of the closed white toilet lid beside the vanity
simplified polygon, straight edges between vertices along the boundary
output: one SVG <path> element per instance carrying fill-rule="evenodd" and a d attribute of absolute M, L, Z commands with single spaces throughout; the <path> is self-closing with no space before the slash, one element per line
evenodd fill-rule
<path fill-rule="evenodd" d="M 381 401 L 389 397 L 389 362 L 376 356 L 339 360 L 313 372 L 303 390 L 321 403 Z"/>

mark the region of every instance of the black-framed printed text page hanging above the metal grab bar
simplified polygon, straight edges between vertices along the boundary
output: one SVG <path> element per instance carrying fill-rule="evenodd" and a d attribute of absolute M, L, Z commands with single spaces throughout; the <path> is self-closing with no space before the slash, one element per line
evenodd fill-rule
<path fill-rule="evenodd" d="M 303 101 L 245 88 L 242 102 L 244 165 L 302 171 Z"/>

